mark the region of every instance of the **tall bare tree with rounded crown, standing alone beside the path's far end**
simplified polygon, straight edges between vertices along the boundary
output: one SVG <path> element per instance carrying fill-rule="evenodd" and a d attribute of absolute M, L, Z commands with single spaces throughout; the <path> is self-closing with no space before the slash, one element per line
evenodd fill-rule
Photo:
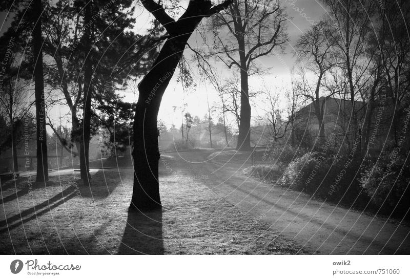
<path fill-rule="evenodd" d="M 204 57 L 217 57 L 229 69 L 236 67 L 240 72 L 239 150 L 251 149 L 249 76 L 260 73 L 257 59 L 286 42 L 285 20 L 279 1 L 233 0 L 228 9 L 210 21 L 206 30 L 213 32 L 213 38 L 202 36 L 208 45 Z"/>

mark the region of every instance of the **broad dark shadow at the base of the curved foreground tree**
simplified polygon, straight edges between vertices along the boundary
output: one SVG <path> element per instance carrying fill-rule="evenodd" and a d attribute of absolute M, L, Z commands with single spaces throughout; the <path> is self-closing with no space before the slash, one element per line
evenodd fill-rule
<path fill-rule="evenodd" d="M 118 254 L 163 254 L 162 210 L 129 212 Z"/>

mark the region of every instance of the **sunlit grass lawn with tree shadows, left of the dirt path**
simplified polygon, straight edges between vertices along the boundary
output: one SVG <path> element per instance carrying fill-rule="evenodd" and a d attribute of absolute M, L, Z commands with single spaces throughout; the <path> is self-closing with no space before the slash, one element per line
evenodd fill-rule
<path fill-rule="evenodd" d="M 79 173 L 2 183 L 2 254 L 293 254 L 298 247 L 244 215 L 201 181 L 160 172 L 162 211 L 129 214 L 132 169 L 100 169 L 92 186 Z M 160 164 L 162 165 L 162 164 Z M 34 181 L 34 178 L 32 178 Z"/>

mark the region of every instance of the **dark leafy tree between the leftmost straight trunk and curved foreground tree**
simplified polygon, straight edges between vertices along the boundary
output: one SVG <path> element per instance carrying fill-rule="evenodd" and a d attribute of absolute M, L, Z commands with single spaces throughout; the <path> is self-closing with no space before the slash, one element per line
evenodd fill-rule
<path fill-rule="evenodd" d="M 124 129 L 115 128 L 114 132 L 118 121 L 124 121 L 120 126 L 125 128 L 122 124 L 130 117 L 129 111 L 128 118 L 127 113 L 120 113 L 127 104 L 118 101 L 120 96 L 116 90 L 125 89 L 130 76 L 146 73 L 148 60 L 151 63 L 156 57 L 155 46 L 162 40 L 157 31 L 149 31 L 145 36 L 126 31 L 132 29 L 135 22 L 130 16 L 131 5 L 131 0 L 115 4 L 111 0 L 58 0 L 55 6 L 49 7 L 51 16 L 44 23 L 47 29 L 44 49 L 50 58 L 47 81 L 51 88 L 63 93 L 61 100 L 70 109 L 71 140 L 77 153 L 71 147 L 67 150 L 79 155 L 81 179 L 85 185 L 90 183 L 88 149 L 91 136 L 99 127 L 106 128 L 110 134 L 120 132 L 128 136 Z M 118 11 L 127 12 L 119 16 Z M 57 138 L 62 140 L 61 144 L 67 144 L 63 143 L 63 138 Z M 119 140 L 125 143 L 125 139 Z"/>

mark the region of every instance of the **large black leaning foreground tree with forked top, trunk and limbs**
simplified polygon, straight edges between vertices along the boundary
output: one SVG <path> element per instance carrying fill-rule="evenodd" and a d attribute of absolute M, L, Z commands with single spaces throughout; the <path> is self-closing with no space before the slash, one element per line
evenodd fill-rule
<path fill-rule="evenodd" d="M 187 41 L 204 17 L 231 4 L 231 0 L 212 6 L 211 1 L 190 1 L 186 11 L 174 20 L 162 5 L 142 0 L 144 7 L 167 30 L 169 37 L 147 75 L 138 84 L 139 97 L 134 118 L 134 187 L 130 209 L 150 210 L 161 207 L 158 183 L 157 116 L 162 95 L 174 74 Z"/>

